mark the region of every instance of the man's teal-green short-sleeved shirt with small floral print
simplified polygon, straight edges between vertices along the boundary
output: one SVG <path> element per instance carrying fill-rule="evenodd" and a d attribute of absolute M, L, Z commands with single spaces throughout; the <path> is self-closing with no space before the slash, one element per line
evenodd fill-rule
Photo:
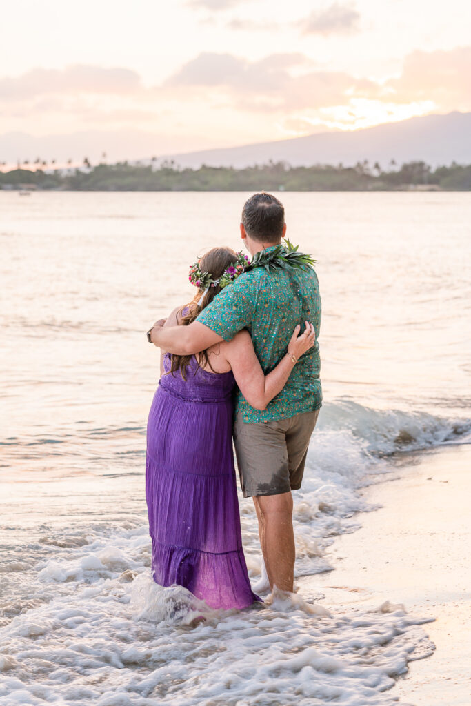
<path fill-rule="evenodd" d="M 260 410 L 251 407 L 239 392 L 237 409 L 242 410 L 244 421 L 256 422 L 288 419 L 321 407 L 321 297 L 314 269 L 277 268 L 270 273 L 263 267 L 250 270 L 222 289 L 197 321 L 227 341 L 247 328 L 265 373 L 273 370 L 286 354 L 297 323 L 302 324 L 303 330 L 304 321 L 313 323 L 316 346 L 299 359 L 280 394 Z"/>

